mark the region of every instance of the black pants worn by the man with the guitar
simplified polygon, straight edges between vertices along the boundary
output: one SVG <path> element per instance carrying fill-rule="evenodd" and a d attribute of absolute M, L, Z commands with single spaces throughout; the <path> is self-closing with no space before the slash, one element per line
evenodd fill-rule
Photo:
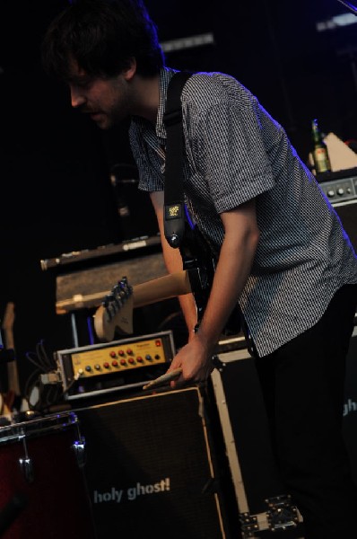
<path fill-rule="evenodd" d="M 342 433 L 356 304 L 357 286 L 342 287 L 314 327 L 257 358 L 278 464 L 306 539 L 357 537 L 357 489 Z"/>

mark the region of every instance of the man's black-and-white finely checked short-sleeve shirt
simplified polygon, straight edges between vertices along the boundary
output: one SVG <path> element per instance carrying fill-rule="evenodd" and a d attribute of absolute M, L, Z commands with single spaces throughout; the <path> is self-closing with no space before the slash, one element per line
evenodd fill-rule
<path fill-rule="evenodd" d="M 164 189 L 162 116 L 174 73 L 161 70 L 156 126 L 132 119 L 142 190 Z M 196 73 L 181 102 L 187 208 L 217 253 L 224 237 L 220 214 L 257 202 L 260 239 L 239 305 L 264 356 L 317 323 L 339 287 L 357 283 L 353 246 L 282 126 L 239 81 Z"/>

